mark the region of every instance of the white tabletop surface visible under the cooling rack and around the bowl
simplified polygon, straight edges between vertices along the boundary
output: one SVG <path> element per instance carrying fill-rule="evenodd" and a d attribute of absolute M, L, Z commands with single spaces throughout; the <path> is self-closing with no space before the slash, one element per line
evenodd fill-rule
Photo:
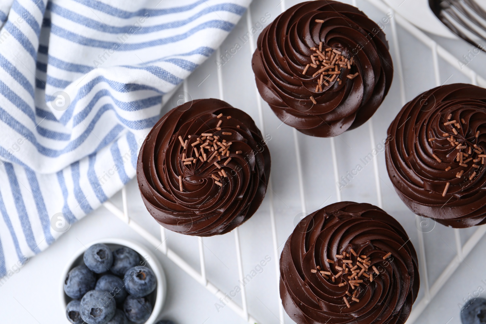
<path fill-rule="evenodd" d="M 412 1 L 412 0 L 409 0 Z M 285 7 L 298 1 L 285 0 Z M 346 1 L 345 1 L 346 2 Z M 347 1 L 350 3 L 350 1 Z M 357 2 L 358 7 L 377 21 L 383 13 L 365 0 Z M 301 205 L 297 161 L 294 151 L 294 131 L 273 114 L 265 102 L 262 105 L 262 118 L 258 110 L 259 96 L 256 94 L 254 75 L 251 70 L 251 54 L 255 48 L 256 34 L 251 42 L 243 44 L 240 36 L 255 26 L 255 23 L 265 13 L 271 14 L 271 20 L 278 16 L 281 10 L 280 0 L 255 0 L 250 6 L 250 15 L 246 13 L 233 32 L 225 40 L 221 52 L 225 53 L 239 42 L 241 49 L 236 52 L 221 68 L 223 78 L 222 88 L 224 100 L 235 107 L 245 110 L 255 119 L 257 125 L 263 125 L 264 135 L 269 134 L 272 139 L 268 146 L 272 154 L 272 188 L 273 200 L 267 194 L 257 213 L 239 228 L 243 274 L 251 273 L 260 268 L 257 265 L 265 256 L 271 261 L 262 267 L 258 273 L 245 286 L 249 312 L 261 324 L 278 323 L 279 304 L 277 273 L 270 224 L 270 207 L 273 204 L 277 224 L 277 242 L 280 246 L 285 242 L 295 226 L 295 218 L 300 216 L 302 210 L 308 213 L 337 201 L 334 183 L 334 169 L 332 165 L 329 138 L 314 138 L 297 133 L 297 143 L 300 147 L 302 161 L 302 176 L 304 184 L 305 205 Z M 266 23 L 268 24 L 268 23 Z M 266 25 L 265 24 L 265 25 Z M 385 26 L 385 33 L 390 42 L 392 57 L 396 59 L 395 41 L 391 38 L 390 24 Z M 391 120 L 401 108 L 400 79 L 404 80 L 406 100 L 411 100 L 419 92 L 435 86 L 434 70 L 431 50 L 420 43 L 417 38 L 397 26 L 400 55 L 403 59 L 403 73 L 397 74 L 395 62 L 395 75 L 392 87 L 378 112 L 372 118 L 372 125 L 368 121 L 363 126 L 334 139 L 338 161 L 338 175 L 345 175 L 359 162 L 359 159 L 371 152 L 374 145 L 386 137 L 386 129 Z M 471 49 L 469 44 L 459 40 L 440 39 L 436 41 L 460 58 Z M 410 51 L 413 49 L 413 55 Z M 413 57 L 423 57 L 412 64 Z M 219 98 L 218 70 L 215 61 L 218 58 L 212 55 L 208 61 L 199 67 L 187 81 L 185 87 L 180 87 L 176 96 L 190 95 L 192 99 Z M 469 64 L 481 75 L 486 75 L 486 55 L 480 53 Z M 418 64 L 418 66 L 417 66 Z M 469 82 L 457 67 L 451 67 L 439 59 L 440 82 L 455 83 Z M 418 74 L 417 74 L 418 71 Z M 451 77 L 450 77 L 451 76 Z M 450 78 L 449 78 L 450 77 Z M 448 79 L 449 78 L 449 79 Z M 184 93 L 183 91 L 187 91 Z M 177 99 L 170 100 L 162 113 L 173 108 Z M 370 128 L 373 137 L 370 136 Z M 290 145 L 289 145 L 290 143 Z M 376 144 L 375 144 L 376 146 Z M 318 148 L 315 150 L 315 148 Z M 312 159 L 311 159 L 312 157 Z M 319 161 L 319 170 L 314 170 L 314 162 Z M 383 209 L 394 216 L 405 228 L 411 241 L 418 251 L 418 234 L 415 215 L 400 201 L 386 173 L 384 154 L 376 156 L 379 181 L 376 182 L 372 163 L 366 165 L 352 182 L 342 190 L 343 200 L 368 202 L 379 204 L 378 189 L 381 189 Z M 139 196 L 136 181 L 127 186 L 128 208 L 130 217 L 142 225 L 151 234 L 159 237 L 159 227 L 150 217 Z M 121 194 L 113 197 L 112 202 L 121 208 Z M 475 229 L 460 230 L 461 241 L 464 244 Z M 179 256 L 183 257 L 194 269 L 199 269 L 199 253 L 197 238 L 167 233 L 167 244 Z M 149 243 L 136 234 L 130 227 L 119 221 L 105 208 L 88 215 L 82 221 L 74 224 L 69 232 L 52 244 L 40 256 L 29 260 L 26 265 L 0 287 L 0 322 L 1 323 L 67 323 L 63 309 L 61 309 L 59 290 L 62 278 L 60 273 L 65 266 L 68 256 L 77 251 L 82 244 L 104 237 L 123 237 L 133 239 L 149 246 Z M 423 235 L 425 242 L 426 265 L 429 276 L 429 285 L 439 276 L 445 266 L 456 256 L 456 245 L 453 230 L 436 224 L 434 230 Z M 204 238 L 204 253 L 206 256 L 206 271 L 208 279 L 220 290 L 226 293 L 235 289 L 238 283 L 238 264 L 235 256 L 235 239 L 232 233 L 224 236 Z M 446 286 L 439 291 L 416 323 L 449 323 L 459 324 L 459 307 L 464 297 L 482 286 L 486 290 L 486 265 L 484 250 L 486 239 L 480 240 L 471 254 L 461 263 L 457 272 L 452 275 Z M 278 253 L 281 252 L 281 246 Z M 158 253 L 158 252 L 157 252 Z M 176 320 L 178 324 L 223 324 L 244 323 L 229 307 L 216 309 L 218 299 L 193 280 L 184 271 L 179 269 L 166 256 L 158 253 L 162 265 L 165 267 L 168 279 L 168 301 L 164 307 L 161 318 L 167 317 Z M 420 255 L 419 255 L 420 258 Z M 257 268 L 256 268 L 257 267 Z M 424 295 L 424 269 L 419 264 L 422 279 L 418 300 Z M 484 293 L 483 293 L 484 294 Z M 242 295 L 237 294 L 234 299 L 241 305 Z M 449 321 L 449 322 L 448 322 Z M 285 324 L 293 323 L 285 314 Z"/>

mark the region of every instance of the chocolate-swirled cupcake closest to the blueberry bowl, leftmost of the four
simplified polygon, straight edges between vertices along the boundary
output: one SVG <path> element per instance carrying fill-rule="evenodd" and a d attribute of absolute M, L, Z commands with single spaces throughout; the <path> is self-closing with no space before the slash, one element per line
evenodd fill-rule
<path fill-rule="evenodd" d="M 248 220 L 265 196 L 270 152 L 253 119 L 217 99 L 175 107 L 140 148 L 142 200 L 162 226 L 197 236 Z"/>

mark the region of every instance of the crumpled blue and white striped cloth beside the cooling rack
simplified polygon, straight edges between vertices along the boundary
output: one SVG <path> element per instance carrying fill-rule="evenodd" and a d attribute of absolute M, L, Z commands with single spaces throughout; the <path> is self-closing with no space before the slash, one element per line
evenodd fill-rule
<path fill-rule="evenodd" d="M 135 175 L 162 97 L 249 2 L 0 1 L 0 277 Z"/>

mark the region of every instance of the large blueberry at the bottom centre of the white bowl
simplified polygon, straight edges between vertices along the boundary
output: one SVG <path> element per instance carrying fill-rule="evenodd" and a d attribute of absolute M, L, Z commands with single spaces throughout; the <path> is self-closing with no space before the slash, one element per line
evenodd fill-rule
<path fill-rule="evenodd" d="M 108 291 L 91 290 L 83 296 L 80 305 L 81 318 L 87 324 L 105 324 L 115 315 L 115 300 Z"/>

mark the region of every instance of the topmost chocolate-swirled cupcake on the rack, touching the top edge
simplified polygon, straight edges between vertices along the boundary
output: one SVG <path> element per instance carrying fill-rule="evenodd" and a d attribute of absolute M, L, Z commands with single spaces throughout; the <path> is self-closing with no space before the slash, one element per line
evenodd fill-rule
<path fill-rule="evenodd" d="M 345 3 L 299 3 L 268 25 L 257 45 L 252 66 L 261 97 L 307 135 L 337 136 L 362 125 L 393 79 L 385 34 Z"/>

